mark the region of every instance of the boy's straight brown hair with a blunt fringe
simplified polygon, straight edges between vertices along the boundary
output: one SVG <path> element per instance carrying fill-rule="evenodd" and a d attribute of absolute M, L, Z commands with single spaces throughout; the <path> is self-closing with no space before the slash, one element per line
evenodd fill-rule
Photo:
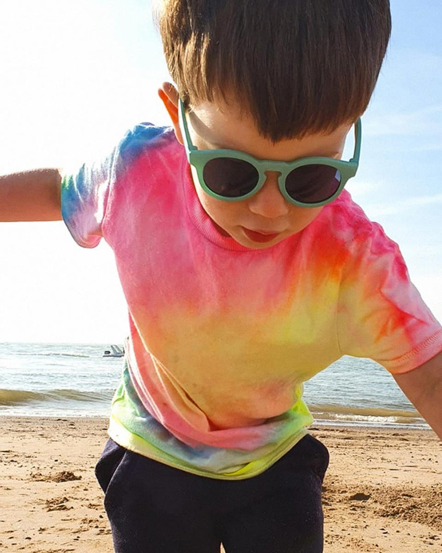
<path fill-rule="evenodd" d="M 161 0 L 186 105 L 234 95 L 262 136 L 331 132 L 366 109 L 391 32 L 388 0 Z"/>

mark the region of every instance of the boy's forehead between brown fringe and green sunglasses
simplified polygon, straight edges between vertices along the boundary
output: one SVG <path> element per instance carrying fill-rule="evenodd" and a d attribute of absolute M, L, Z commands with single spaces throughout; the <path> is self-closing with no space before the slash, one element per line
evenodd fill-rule
<path fill-rule="evenodd" d="M 289 161 L 309 156 L 339 158 L 351 124 L 331 133 L 307 134 L 278 142 L 263 137 L 251 115 L 235 102 L 202 102 L 188 113 L 192 142 L 199 149 L 233 149 L 258 159 Z"/>

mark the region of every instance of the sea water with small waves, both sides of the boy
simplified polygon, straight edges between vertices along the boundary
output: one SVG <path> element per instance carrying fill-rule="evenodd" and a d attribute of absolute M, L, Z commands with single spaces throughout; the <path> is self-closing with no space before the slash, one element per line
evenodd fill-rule
<path fill-rule="evenodd" d="M 109 349 L 0 343 L 0 415 L 107 417 L 123 366 L 123 358 L 103 357 Z M 391 375 L 370 359 L 339 359 L 304 384 L 304 400 L 317 425 L 428 428 Z"/>

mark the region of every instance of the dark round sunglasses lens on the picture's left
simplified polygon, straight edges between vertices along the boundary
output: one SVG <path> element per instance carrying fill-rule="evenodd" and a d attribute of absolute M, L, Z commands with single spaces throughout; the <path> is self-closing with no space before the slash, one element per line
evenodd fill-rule
<path fill-rule="evenodd" d="M 248 161 L 215 158 L 204 165 L 203 178 L 215 194 L 235 198 L 249 194 L 255 188 L 259 173 Z"/>

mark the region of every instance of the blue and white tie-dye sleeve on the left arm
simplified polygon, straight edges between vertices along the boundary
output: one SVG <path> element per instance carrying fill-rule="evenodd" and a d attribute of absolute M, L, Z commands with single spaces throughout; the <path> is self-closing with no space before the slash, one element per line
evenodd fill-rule
<path fill-rule="evenodd" d="M 85 248 L 94 248 L 102 238 L 117 156 L 115 147 L 102 161 L 83 164 L 79 170 L 62 176 L 62 217 L 72 237 Z"/>

